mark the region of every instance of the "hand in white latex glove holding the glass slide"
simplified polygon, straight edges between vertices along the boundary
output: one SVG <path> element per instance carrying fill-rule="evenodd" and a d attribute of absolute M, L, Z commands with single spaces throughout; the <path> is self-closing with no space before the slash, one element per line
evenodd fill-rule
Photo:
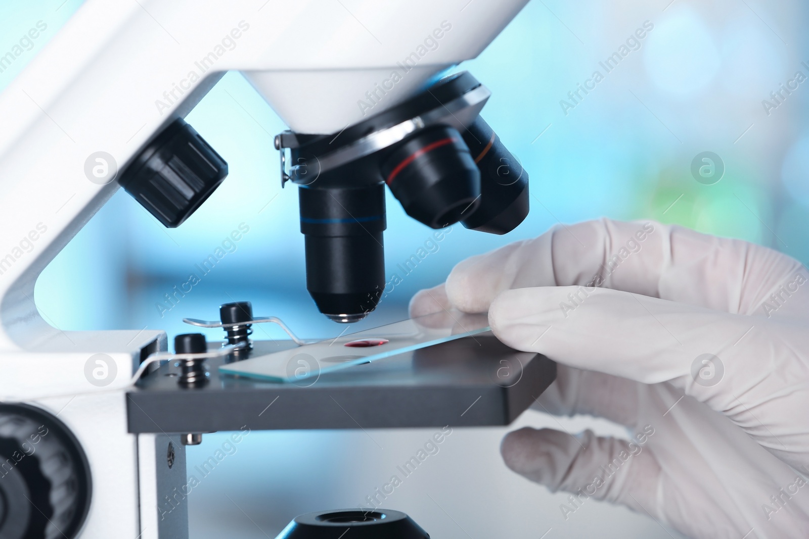
<path fill-rule="evenodd" d="M 690 537 L 809 537 L 809 273 L 765 247 L 656 222 L 560 226 L 459 263 L 412 316 L 489 311 L 558 362 L 537 399 L 627 440 L 523 428 L 506 465 Z"/>

